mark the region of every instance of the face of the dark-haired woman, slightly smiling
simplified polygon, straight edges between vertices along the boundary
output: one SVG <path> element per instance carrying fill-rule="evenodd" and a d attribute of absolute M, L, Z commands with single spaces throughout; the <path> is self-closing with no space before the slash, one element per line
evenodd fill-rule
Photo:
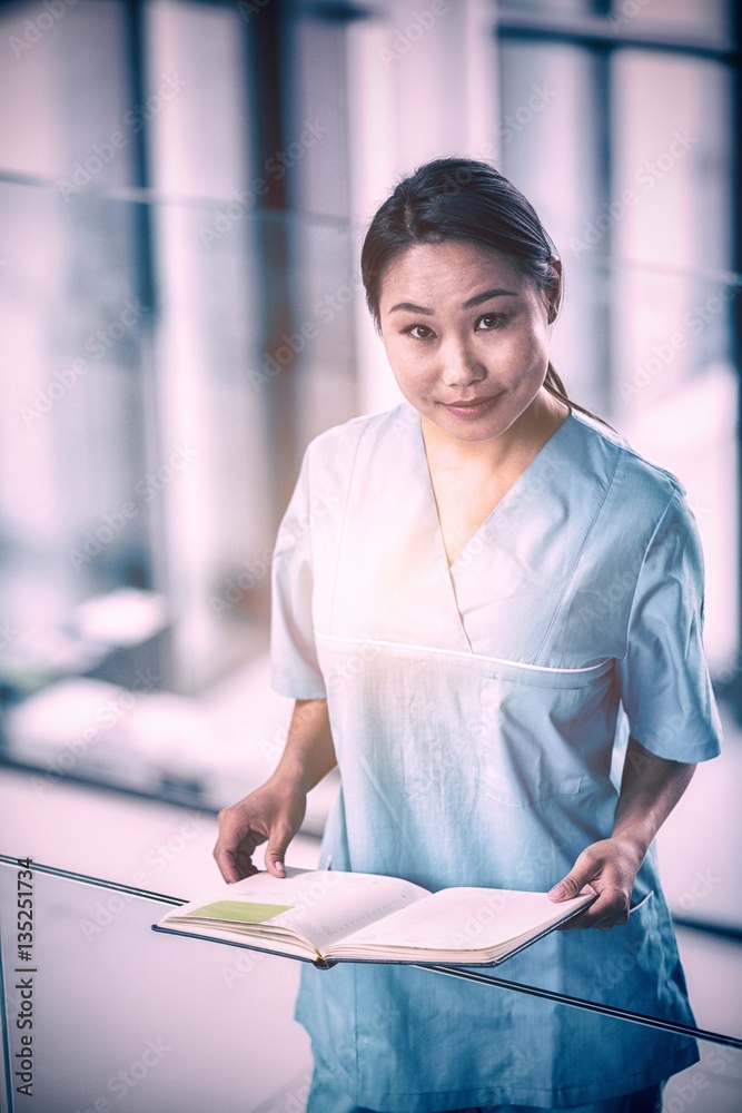
<path fill-rule="evenodd" d="M 384 274 L 379 316 L 399 390 L 451 436 L 499 436 L 540 395 L 547 305 L 499 252 L 464 240 L 416 244 Z"/>

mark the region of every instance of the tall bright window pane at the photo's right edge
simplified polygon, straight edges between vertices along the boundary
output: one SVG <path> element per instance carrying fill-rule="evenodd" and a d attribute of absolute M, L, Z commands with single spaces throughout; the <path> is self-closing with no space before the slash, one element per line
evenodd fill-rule
<path fill-rule="evenodd" d="M 706 550 L 706 646 L 736 647 L 738 374 L 731 328 L 730 75 L 621 51 L 612 69 L 613 413 L 632 444 L 685 482 Z M 647 111 L 647 105 L 651 110 Z M 704 277 L 708 276 L 708 277 Z M 719 277 L 716 277 L 719 276 Z"/>

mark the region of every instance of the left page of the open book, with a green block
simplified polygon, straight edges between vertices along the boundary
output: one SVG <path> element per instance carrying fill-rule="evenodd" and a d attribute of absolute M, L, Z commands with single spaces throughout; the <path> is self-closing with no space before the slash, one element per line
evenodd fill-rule
<path fill-rule="evenodd" d="M 174 909 L 161 923 L 192 922 L 197 930 L 201 918 L 225 920 L 256 940 L 289 930 L 323 953 L 328 944 L 426 896 L 427 889 L 398 877 L 289 867 L 286 878 L 260 873 L 225 883 L 206 899 Z"/>

